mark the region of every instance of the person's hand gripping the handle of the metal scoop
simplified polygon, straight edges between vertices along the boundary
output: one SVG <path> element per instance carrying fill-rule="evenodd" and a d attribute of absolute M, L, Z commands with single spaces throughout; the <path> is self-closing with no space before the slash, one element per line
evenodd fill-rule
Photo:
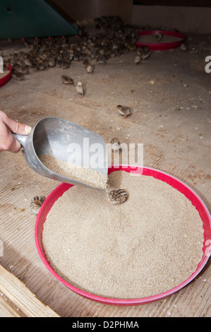
<path fill-rule="evenodd" d="M 0 111 L 0 152 L 7 150 L 11 153 L 18 153 L 20 143 L 13 137 L 13 134 L 28 135 L 32 128 L 9 118 Z"/>

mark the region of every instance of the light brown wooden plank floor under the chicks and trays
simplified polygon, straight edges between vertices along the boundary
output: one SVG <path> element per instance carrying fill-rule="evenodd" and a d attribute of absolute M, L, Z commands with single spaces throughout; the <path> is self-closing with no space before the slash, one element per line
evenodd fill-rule
<path fill-rule="evenodd" d="M 106 66 L 96 65 L 93 75 L 73 61 L 70 69 L 30 73 L 21 82 L 12 78 L 0 89 L 0 109 L 31 126 L 42 117 L 56 116 L 96 131 L 107 143 L 115 136 L 122 143 L 143 143 L 145 166 L 186 182 L 211 210 L 211 73 L 205 72 L 211 40 L 190 37 L 188 52 L 152 52 L 140 66 L 134 65 L 135 54 L 130 52 L 109 59 Z M 61 84 L 64 73 L 76 83 L 84 81 L 83 98 L 73 86 Z M 116 110 L 119 104 L 132 107 L 133 114 L 122 119 Z M 21 152 L 2 152 L 0 167 L 0 263 L 59 316 L 211 316 L 210 260 L 189 285 L 151 304 L 110 306 L 68 290 L 37 253 L 36 217 L 30 211 L 32 197 L 47 196 L 59 183 L 30 170 Z"/>

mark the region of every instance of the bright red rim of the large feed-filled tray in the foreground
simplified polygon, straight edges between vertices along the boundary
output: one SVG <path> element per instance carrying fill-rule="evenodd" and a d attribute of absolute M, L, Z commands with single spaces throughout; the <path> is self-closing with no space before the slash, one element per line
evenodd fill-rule
<path fill-rule="evenodd" d="M 56 200 L 64 194 L 65 191 L 67 191 L 69 188 L 71 188 L 71 184 L 59 184 L 59 186 L 56 187 L 52 191 L 51 194 L 46 198 L 44 201 L 42 207 L 40 208 L 40 212 L 37 215 L 37 220 L 35 224 L 35 242 L 37 246 L 37 251 L 40 254 L 40 258 L 42 259 L 44 265 L 47 267 L 50 273 L 54 275 L 54 277 L 59 280 L 61 283 L 63 283 L 66 287 L 68 287 L 73 292 L 76 292 L 78 295 L 81 295 L 85 298 L 88 298 L 89 300 L 94 300 L 97 302 L 101 302 L 104 304 L 114 304 L 114 305 L 136 305 L 136 304 L 146 304 L 150 302 L 154 302 L 157 300 L 161 300 L 164 297 L 167 297 L 169 295 L 174 294 L 178 290 L 181 290 L 182 287 L 186 286 L 188 283 L 193 280 L 200 271 L 204 268 L 205 264 L 207 263 L 210 251 L 211 251 L 211 218 L 210 213 L 207 210 L 207 207 L 205 206 L 205 203 L 201 200 L 201 198 L 198 196 L 198 194 L 193 191 L 188 185 L 181 182 L 179 179 L 176 179 L 176 177 L 173 177 L 165 172 L 155 170 L 150 167 L 135 167 L 133 165 L 121 165 L 119 167 L 112 166 L 109 167 L 109 173 L 115 172 L 118 170 L 123 170 L 126 172 L 131 173 L 137 173 L 137 174 L 143 174 L 145 176 L 154 177 L 155 179 L 159 179 L 163 182 L 166 182 L 170 186 L 172 186 L 174 189 L 180 191 L 183 195 L 188 198 L 193 206 L 195 206 L 196 210 L 198 211 L 201 220 L 203 221 L 203 230 L 204 230 L 204 242 L 203 242 L 203 258 L 198 262 L 198 266 L 192 275 L 189 276 L 186 280 L 183 281 L 180 285 L 177 285 L 176 287 L 172 288 L 171 290 L 168 290 L 167 292 L 162 292 L 157 295 L 153 295 L 150 297 L 143 297 L 143 298 L 134 298 L 134 299 L 114 299 L 114 298 L 107 298 L 107 297 L 100 297 L 97 295 L 92 295 L 88 292 L 85 292 L 83 290 L 80 290 L 70 283 L 67 283 L 66 280 L 61 278 L 52 266 L 50 266 L 49 261 L 47 261 L 47 257 L 44 253 L 44 248 L 42 244 L 42 231 L 44 227 L 44 222 L 47 218 L 47 214 L 51 210 L 52 206 L 56 202 Z"/>

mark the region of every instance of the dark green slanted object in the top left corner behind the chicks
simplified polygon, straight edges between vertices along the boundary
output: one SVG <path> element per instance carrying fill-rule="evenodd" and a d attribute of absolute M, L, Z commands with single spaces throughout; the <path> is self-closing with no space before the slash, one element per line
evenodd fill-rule
<path fill-rule="evenodd" d="M 0 39 L 78 35 L 78 25 L 50 1 L 1 0 Z"/>

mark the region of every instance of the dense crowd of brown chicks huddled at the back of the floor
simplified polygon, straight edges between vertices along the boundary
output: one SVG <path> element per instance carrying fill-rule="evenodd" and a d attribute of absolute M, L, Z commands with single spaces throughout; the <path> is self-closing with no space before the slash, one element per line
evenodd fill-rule
<path fill-rule="evenodd" d="M 92 60 L 105 65 L 111 57 L 135 51 L 138 28 L 124 25 L 121 18 L 105 16 L 95 19 L 95 28 L 100 32 L 94 35 L 84 31 L 78 37 L 25 40 L 26 49 L 14 52 L 6 61 L 13 68 L 12 76 L 22 81 L 31 71 L 44 71 L 51 67 L 68 69 L 71 61 L 80 61 L 88 73 L 93 73 L 95 65 Z"/>

